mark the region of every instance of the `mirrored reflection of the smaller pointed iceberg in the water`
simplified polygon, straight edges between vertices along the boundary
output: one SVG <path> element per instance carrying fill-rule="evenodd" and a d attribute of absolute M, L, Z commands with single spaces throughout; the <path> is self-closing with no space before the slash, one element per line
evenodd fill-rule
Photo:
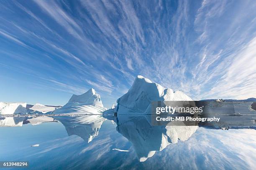
<path fill-rule="evenodd" d="M 106 119 L 102 115 L 88 115 L 54 116 L 54 120 L 58 120 L 65 126 L 69 136 L 77 135 L 89 143 L 98 135 L 100 127 Z"/>

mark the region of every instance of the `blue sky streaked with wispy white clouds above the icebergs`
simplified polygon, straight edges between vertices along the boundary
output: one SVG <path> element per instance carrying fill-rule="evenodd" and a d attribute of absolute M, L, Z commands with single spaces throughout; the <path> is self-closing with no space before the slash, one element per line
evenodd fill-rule
<path fill-rule="evenodd" d="M 1 0 L 0 101 L 105 107 L 143 75 L 194 100 L 256 97 L 253 0 Z"/>

